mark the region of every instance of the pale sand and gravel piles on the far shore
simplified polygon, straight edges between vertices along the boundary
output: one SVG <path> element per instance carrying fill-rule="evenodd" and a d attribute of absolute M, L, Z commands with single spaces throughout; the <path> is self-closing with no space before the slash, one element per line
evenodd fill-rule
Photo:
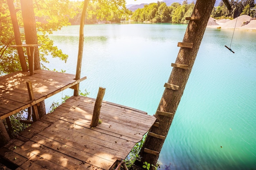
<path fill-rule="evenodd" d="M 234 29 L 236 25 L 236 29 L 256 29 L 256 20 L 251 20 L 252 17 L 248 15 L 241 15 L 238 18 L 235 18 L 234 20 L 229 20 L 229 19 L 223 19 L 220 21 L 216 21 L 216 24 L 212 24 L 215 19 L 210 18 L 207 25 L 207 27 L 211 28 L 229 28 L 229 29 Z M 250 21 L 251 20 L 251 21 Z M 247 21 L 250 21 L 247 25 L 243 24 Z"/>

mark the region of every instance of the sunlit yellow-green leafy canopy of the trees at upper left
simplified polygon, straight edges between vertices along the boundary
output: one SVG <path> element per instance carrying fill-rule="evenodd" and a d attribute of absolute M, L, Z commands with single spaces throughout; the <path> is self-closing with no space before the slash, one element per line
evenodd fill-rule
<path fill-rule="evenodd" d="M 58 57 L 66 61 L 67 55 L 62 53 L 48 34 L 60 30 L 70 22 L 79 24 L 83 9 L 83 1 L 70 0 L 33 0 L 36 28 L 38 31 L 41 67 L 47 69 L 43 63 L 48 63 L 47 57 Z M 23 26 L 20 1 L 13 0 L 18 24 Z M 120 21 L 127 17 L 129 11 L 125 7 L 125 0 L 91 0 L 87 12 L 87 21 L 95 23 L 97 20 Z M 13 27 L 6 0 L 0 0 L 0 75 L 21 70 L 16 49 L 7 46 L 15 44 Z M 87 22 L 87 23 L 88 23 Z M 25 43 L 25 34 L 21 30 L 20 38 Z M 25 50 L 25 49 L 24 49 Z M 43 63 L 42 63 L 43 62 Z"/>

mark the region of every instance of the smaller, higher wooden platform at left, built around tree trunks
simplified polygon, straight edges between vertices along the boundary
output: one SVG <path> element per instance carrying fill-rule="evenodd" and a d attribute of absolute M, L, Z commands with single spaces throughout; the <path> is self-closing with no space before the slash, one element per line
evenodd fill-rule
<path fill-rule="evenodd" d="M 21 71 L 1 76 L 0 118 L 7 118 L 86 79 L 86 77 L 79 80 L 74 78 L 75 75 L 72 74 L 46 70 L 35 70 L 32 76 L 29 76 L 29 72 Z M 34 101 L 29 99 L 27 81 L 32 83 Z"/>

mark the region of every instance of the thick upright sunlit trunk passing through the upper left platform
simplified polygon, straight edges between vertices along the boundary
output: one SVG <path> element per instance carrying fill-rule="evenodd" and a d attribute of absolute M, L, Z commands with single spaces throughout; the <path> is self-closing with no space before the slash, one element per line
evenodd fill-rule
<path fill-rule="evenodd" d="M 36 33 L 36 19 L 33 8 L 32 0 L 20 0 L 22 18 L 24 23 L 25 39 L 27 44 L 38 44 L 37 42 L 37 33 Z M 34 55 L 34 67 L 35 70 L 40 69 L 40 57 L 38 47 L 35 47 Z M 28 51 L 28 49 L 27 49 Z M 45 112 L 45 101 L 39 103 L 38 113 L 39 117 L 43 117 L 46 114 Z"/>

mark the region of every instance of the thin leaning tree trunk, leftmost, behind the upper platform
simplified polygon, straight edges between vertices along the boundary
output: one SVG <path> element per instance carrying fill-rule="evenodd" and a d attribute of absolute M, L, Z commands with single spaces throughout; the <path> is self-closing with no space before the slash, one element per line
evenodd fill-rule
<path fill-rule="evenodd" d="M 15 8 L 13 5 L 13 0 L 7 0 L 7 4 L 9 7 L 10 14 L 11 14 L 11 22 L 12 22 L 13 31 L 14 31 L 15 42 L 16 42 L 16 45 L 20 45 L 21 44 L 20 29 L 19 29 L 19 25 L 18 25 L 18 21 L 17 21 L 17 15 L 15 12 Z M 17 51 L 18 51 L 22 71 L 27 71 L 27 62 L 26 62 L 24 51 L 23 51 L 22 47 L 17 47 Z"/>

